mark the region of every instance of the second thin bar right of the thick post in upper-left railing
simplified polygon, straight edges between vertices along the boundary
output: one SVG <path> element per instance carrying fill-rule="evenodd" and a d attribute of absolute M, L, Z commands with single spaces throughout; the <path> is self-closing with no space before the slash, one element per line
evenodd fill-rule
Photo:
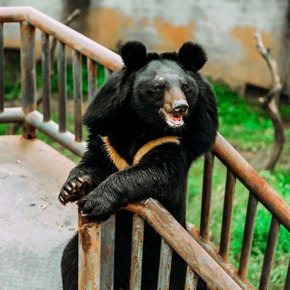
<path fill-rule="evenodd" d="M 58 42 L 57 81 L 59 90 L 59 132 L 66 132 L 66 46 Z"/>

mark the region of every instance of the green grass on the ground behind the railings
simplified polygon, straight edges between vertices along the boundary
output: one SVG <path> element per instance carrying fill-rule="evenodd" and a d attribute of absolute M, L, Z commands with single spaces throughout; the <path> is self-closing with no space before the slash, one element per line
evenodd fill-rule
<path fill-rule="evenodd" d="M 37 65 L 37 87 L 40 87 L 40 69 Z M 9 100 L 18 99 L 21 95 L 20 81 L 15 75 L 18 74 L 20 68 L 14 67 L 10 74 L 5 74 L 5 92 Z M 72 73 L 71 66 L 67 68 L 68 97 L 71 99 L 73 93 L 72 86 Z M 11 77 L 13 76 L 13 78 Z M 98 85 L 100 86 L 105 78 L 105 71 L 103 67 L 98 66 Z M 273 130 L 272 124 L 265 116 L 264 112 L 259 105 L 255 103 L 247 103 L 239 95 L 231 91 L 228 86 L 220 85 L 219 83 L 212 82 L 214 91 L 216 92 L 219 103 L 219 132 L 233 144 L 233 146 L 240 151 L 254 167 L 260 170 L 263 166 L 265 158 L 269 155 L 272 148 Z M 52 93 L 57 92 L 57 74 L 52 77 Z M 85 65 L 83 66 L 83 94 L 86 99 L 88 93 L 87 73 Z M 55 100 L 54 100 L 55 103 Z M 282 117 L 285 120 L 290 119 L 289 107 L 281 108 Z M 57 122 L 57 114 L 52 113 L 52 120 Z M 69 131 L 74 131 L 73 117 L 71 114 L 67 117 Z M 0 134 L 5 134 L 8 129 L 7 124 L 0 124 Z M 284 152 L 277 164 L 273 173 L 260 171 L 267 182 L 279 194 L 290 203 L 290 129 L 285 130 L 287 142 L 284 146 Z M 37 132 L 37 137 L 47 142 L 55 149 L 64 153 L 64 155 L 71 158 L 73 161 L 78 162 L 79 158 L 74 156 L 73 153 L 64 149 L 61 145 L 55 143 L 44 134 Z M 86 137 L 86 132 L 85 132 Z M 211 197 L 211 240 L 219 245 L 221 236 L 221 219 L 222 209 L 224 204 L 224 187 L 226 180 L 226 168 L 218 161 L 214 165 L 214 178 L 213 190 Z M 200 204 L 202 192 L 202 172 L 203 172 L 203 159 L 200 158 L 193 164 L 189 180 L 188 180 L 188 198 L 187 198 L 187 221 L 199 226 L 200 219 Z M 233 221 L 231 232 L 231 251 L 230 260 L 238 267 L 238 260 L 240 257 L 240 245 L 243 238 L 243 226 L 245 223 L 245 211 L 248 202 L 248 190 L 237 182 L 234 208 L 233 208 Z M 255 232 L 253 249 L 250 257 L 250 268 L 248 277 L 250 282 L 257 286 L 260 279 L 260 271 L 262 268 L 262 259 L 265 253 L 267 244 L 267 233 L 269 231 L 269 223 L 271 216 L 267 209 L 259 204 L 257 209 L 257 217 L 255 221 Z M 290 252 L 290 235 L 285 228 L 281 228 L 279 232 L 279 240 L 277 245 L 276 254 L 274 257 L 274 267 L 272 269 L 270 289 L 282 289 L 284 279 L 286 276 L 286 267 L 289 260 Z"/>

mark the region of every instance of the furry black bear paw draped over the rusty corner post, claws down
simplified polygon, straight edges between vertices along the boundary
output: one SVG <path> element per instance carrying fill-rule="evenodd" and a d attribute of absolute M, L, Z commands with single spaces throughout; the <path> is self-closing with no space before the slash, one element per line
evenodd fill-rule
<path fill-rule="evenodd" d="M 78 202 L 83 214 L 88 219 L 97 221 L 105 221 L 126 203 L 119 195 L 106 191 L 102 186 L 95 188 Z"/>

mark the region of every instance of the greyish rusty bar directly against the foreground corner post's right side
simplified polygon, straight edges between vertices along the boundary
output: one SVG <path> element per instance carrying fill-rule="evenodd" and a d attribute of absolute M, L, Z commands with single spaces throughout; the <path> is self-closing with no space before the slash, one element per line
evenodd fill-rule
<path fill-rule="evenodd" d="M 114 289 L 115 215 L 101 223 L 100 289 Z"/>

